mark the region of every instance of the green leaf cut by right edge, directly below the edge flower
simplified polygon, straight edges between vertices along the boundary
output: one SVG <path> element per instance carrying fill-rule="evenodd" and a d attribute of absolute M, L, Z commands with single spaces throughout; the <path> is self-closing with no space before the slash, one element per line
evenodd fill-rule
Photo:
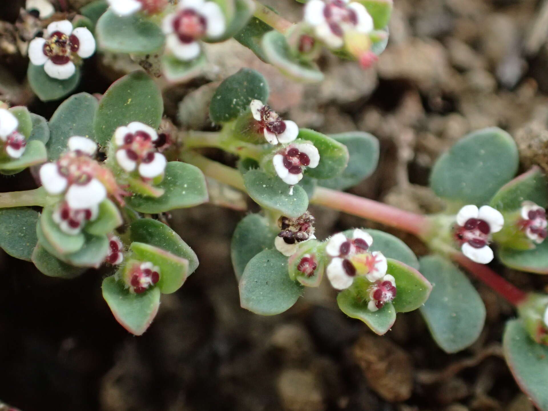
<path fill-rule="evenodd" d="M 536 244 L 532 250 L 499 247 L 499 259 L 511 269 L 548 274 L 548 241 Z"/>

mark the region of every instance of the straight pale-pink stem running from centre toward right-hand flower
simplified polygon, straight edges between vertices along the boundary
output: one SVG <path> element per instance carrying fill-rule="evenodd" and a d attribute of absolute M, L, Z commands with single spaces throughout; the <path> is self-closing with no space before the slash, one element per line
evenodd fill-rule
<path fill-rule="evenodd" d="M 317 187 L 311 202 L 368 220 L 381 222 L 418 237 L 422 237 L 430 228 L 430 222 L 424 215 L 410 213 L 388 204 L 350 193 L 325 189 L 324 187 Z"/>

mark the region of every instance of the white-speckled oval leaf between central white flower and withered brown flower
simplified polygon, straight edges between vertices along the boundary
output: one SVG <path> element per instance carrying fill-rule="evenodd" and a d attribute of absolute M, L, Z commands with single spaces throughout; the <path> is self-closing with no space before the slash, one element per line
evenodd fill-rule
<path fill-rule="evenodd" d="M 293 187 L 289 195 L 289 186 L 277 176 L 267 175 L 260 170 L 249 170 L 243 176 L 246 190 L 259 206 L 297 218 L 308 208 L 308 196 L 301 186 Z"/>

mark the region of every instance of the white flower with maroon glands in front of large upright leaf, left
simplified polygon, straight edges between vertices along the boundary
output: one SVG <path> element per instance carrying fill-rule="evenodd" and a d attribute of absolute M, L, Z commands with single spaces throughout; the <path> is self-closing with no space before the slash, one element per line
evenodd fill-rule
<path fill-rule="evenodd" d="M 152 127 L 139 122 L 118 127 L 114 141 L 117 146 L 116 161 L 126 172 L 137 169 L 139 175 L 146 179 L 164 172 L 167 160 L 157 152 L 155 143 L 158 134 Z"/>

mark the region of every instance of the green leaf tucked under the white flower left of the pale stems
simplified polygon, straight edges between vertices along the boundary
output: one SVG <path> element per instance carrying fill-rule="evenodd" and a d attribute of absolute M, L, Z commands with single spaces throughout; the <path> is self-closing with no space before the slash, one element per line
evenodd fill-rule
<path fill-rule="evenodd" d="M 164 190 L 158 198 L 134 195 L 128 205 L 140 213 L 164 213 L 175 208 L 197 206 L 208 201 L 206 178 L 195 165 L 170 161 L 157 186 Z"/>

